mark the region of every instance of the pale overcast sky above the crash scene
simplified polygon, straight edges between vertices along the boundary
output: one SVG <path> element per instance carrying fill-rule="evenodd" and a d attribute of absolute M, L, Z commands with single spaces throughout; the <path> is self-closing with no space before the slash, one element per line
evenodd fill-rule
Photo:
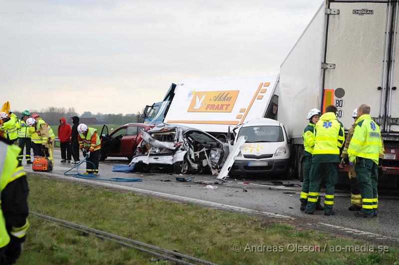
<path fill-rule="evenodd" d="M 0 104 L 127 114 L 181 80 L 275 74 L 321 2 L 0 0 Z"/>

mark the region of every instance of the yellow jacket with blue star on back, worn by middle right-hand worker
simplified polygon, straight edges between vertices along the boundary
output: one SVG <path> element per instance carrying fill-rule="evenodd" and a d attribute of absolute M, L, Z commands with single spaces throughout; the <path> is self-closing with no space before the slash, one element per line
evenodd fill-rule
<path fill-rule="evenodd" d="M 315 126 L 316 140 L 313 155 L 315 154 L 340 154 L 344 144 L 344 128 L 334 113 L 328 112 L 320 116 Z"/>

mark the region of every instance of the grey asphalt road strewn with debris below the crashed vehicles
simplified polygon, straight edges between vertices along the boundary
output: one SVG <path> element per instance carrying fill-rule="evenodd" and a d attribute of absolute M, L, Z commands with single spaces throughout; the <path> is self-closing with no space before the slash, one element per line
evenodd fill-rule
<path fill-rule="evenodd" d="M 178 175 L 170 171 L 158 171 L 153 173 L 121 173 L 112 172 L 115 164 L 128 164 L 126 158 L 114 158 L 100 162 L 99 172 L 101 178 L 141 178 L 142 182 L 111 182 L 106 180 L 82 180 L 73 177 L 65 177 L 64 172 L 73 165 L 61 163 L 60 151 L 54 151 L 54 170 L 47 174 L 52 177 L 68 178 L 82 183 L 95 183 L 96 185 L 120 188 L 137 193 L 162 197 L 171 200 L 197 203 L 206 207 L 238 211 L 263 218 L 286 219 L 287 222 L 299 226 L 319 229 L 332 233 L 342 234 L 352 238 L 366 239 L 378 244 L 399 245 L 399 192 L 380 191 L 378 217 L 358 218 L 353 212 L 348 211 L 350 206 L 350 191 L 347 187 L 339 187 L 335 193 L 335 216 L 325 216 L 323 211 L 316 211 L 314 215 L 307 215 L 299 210 L 299 193 L 302 183 L 295 179 L 279 177 L 251 177 L 241 179 L 229 179 L 227 182 L 216 180 L 212 175 L 185 175 L 194 176 L 191 182 L 178 182 Z M 25 165 L 26 171 L 31 171 L 30 166 Z M 82 172 L 84 172 L 84 165 Z M 197 184 L 194 181 L 216 186 L 217 189 L 205 188 L 205 184 Z M 217 181 L 218 184 L 215 184 Z M 281 181 L 283 184 L 292 183 L 296 187 L 275 185 L 272 182 Z M 296 185 L 298 184 L 298 185 Z M 321 193 L 323 193 L 322 189 Z"/>

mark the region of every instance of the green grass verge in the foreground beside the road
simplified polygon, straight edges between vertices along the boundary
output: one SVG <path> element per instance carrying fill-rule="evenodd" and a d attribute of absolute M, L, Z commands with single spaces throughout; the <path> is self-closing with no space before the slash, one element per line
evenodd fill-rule
<path fill-rule="evenodd" d="M 290 224 L 34 174 L 28 175 L 28 181 L 31 211 L 217 264 L 399 263 L 397 248 L 390 247 L 385 253 L 331 252 L 333 247 L 339 250 L 367 243 Z M 29 220 L 31 227 L 19 263 L 154 264 L 150 261 L 153 257 L 133 249 L 34 216 Z M 238 252 L 233 250 L 239 249 L 236 244 L 241 247 Z M 311 252 L 303 250 L 306 246 Z M 320 252 L 314 246 L 320 246 Z"/>

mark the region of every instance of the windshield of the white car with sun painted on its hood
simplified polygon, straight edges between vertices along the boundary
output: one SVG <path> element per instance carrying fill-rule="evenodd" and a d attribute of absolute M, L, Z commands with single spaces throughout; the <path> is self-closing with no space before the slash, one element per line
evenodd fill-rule
<path fill-rule="evenodd" d="M 283 131 L 280 126 L 242 127 L 238 133 L 238 137 L 242 135 L 247 137 L 245 142 L 284 141 Z"/>

